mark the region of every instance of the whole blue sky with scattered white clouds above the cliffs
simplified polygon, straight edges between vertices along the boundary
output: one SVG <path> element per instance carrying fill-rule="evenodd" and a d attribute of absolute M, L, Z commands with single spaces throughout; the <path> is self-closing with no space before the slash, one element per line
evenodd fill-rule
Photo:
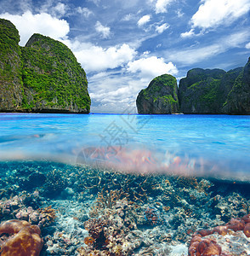
<path fill-rule="evenodd" d="M 250 56 L 250 0 L 0 0 L 25 45 L 66 44 L 88 76 L 92 112 L 123 112 L 158 75 L 226 71 Z"/>

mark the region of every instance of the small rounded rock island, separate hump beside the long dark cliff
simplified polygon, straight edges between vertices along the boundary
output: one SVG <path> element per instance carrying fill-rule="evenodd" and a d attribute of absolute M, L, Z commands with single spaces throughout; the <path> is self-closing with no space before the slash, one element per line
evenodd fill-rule
<path fill-rule="evenodd" d="M 136 99 L 138 113 L 178 113 L 178 86 L 168 74 L 156 77 Z"/>

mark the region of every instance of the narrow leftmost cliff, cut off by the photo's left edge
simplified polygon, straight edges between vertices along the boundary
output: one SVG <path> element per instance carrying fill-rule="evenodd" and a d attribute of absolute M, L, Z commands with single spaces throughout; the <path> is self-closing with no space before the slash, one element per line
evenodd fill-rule
<path fill-rule="evenodd" d="M 9 20 L 0 19 L 0 110 L 15 111 L 22 102 L 19 32 Z"/>

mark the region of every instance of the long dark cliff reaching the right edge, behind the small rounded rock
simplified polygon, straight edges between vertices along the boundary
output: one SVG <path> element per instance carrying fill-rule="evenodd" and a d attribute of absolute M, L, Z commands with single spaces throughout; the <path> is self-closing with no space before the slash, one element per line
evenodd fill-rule
<path fill-rule="evenodd" d="M 250 61 L 224 72 L 192 69 L 179 81 L 182 113 L 250 114 Z"/>

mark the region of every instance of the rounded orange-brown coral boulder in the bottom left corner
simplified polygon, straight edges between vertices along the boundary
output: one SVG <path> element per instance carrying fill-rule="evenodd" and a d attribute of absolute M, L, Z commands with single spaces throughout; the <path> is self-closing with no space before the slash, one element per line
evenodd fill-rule
<path fill-rule="evenodd" d="M 41 230 L 25 220 L 11 219 L 0 225 L 0 236 L 7 234 L 0 243 L 1 256 L 38 256 L 43 247 Z M 14 236 L 13 236 L 14 235 Z"/>

